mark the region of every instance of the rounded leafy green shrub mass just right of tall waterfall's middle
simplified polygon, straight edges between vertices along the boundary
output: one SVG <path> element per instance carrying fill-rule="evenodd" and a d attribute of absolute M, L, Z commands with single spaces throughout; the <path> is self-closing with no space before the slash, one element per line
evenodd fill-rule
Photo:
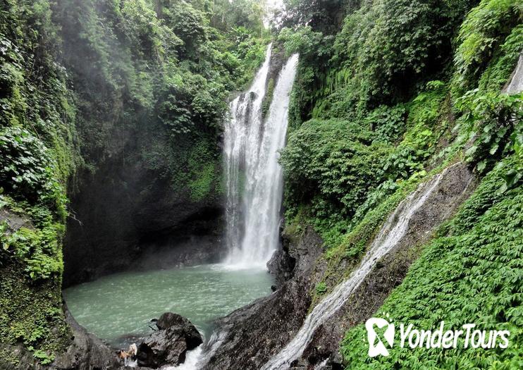
<path fill-rule="evenodd" d="M 388 151 L 384 144 L 371 144 L 371 133 L 358 123 L 304 123 L 290 134 L 281 153 L 286 204 L 307 202 L 316 218 L 352 215 L 380 183 Z"/>

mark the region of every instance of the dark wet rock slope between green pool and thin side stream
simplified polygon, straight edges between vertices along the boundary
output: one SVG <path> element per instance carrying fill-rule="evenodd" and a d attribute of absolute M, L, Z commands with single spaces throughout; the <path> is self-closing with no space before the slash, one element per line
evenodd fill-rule
<path fill-rule="evenodd" d="M 224 333 L 204 369 L 258 370 L 293 338 L 312 302 L 312 268 L 323 252 L 323 241 L 308 229 L 297 244 L 290 243 L 287 257 L 295 261 L 293 277 L 269 297 L 242 307 L 217 324 Z M 212 343 L 209 343 L 212 347 Z"/>

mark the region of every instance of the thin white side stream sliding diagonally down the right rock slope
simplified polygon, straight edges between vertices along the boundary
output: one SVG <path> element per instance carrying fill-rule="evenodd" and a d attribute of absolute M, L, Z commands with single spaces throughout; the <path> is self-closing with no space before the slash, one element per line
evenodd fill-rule
<path fill-rule="evenodd" d="M 262 370 L 288 369 L 290 363 L 300 357 L 316 329 L 347 302 L 352 292 L 359 287 L 364 278 L 371 272 L 376 261 L 379 261 L 381 257 L 385 256 L 398 245 L 398 242 L 400 242 L 407 232 L 412 217 L 424 204 L 433 190 L 436 189 L 441 178 L 445 175 L 445 171 L 434 176 L 429 182 L 419 185 L 415 192 L 396 207 L 393 214 L 388 217 L 386 223 L 379 231 L 374 242 L 372 242 L 359 267 L 352 272 L 347 280 L 336 286 L 333 292 L 324 297 L 324 299 L 314 307 L 293 340 L 276 354 L 276 356 L 270 359 L 269 362 L 262 367 Z"/>

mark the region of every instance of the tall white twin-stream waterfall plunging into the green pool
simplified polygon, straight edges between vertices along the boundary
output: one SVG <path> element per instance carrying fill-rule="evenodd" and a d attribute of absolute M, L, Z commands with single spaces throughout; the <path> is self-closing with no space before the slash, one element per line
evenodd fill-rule
<path fill-rule="evenodd" d="M 278 151 L 285 144 L 289 94 L 297 58 L 291 56 L 283 66 L 266 119 L 262 118 L 262 101 L 271 45 L 250 89 L 230 103 L 224 140 L 228 265 L 265 267 L 278 246 L 283 190 Z"/>

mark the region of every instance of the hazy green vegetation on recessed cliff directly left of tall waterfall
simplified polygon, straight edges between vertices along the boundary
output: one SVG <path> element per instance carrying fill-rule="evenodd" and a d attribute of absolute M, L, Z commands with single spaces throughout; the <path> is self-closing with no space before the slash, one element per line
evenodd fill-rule
<path fill-rule="evenodd" d="M 126 152 L 130 161 L 161 168 L 178 192 L 201 197 L 183 173 L 209 172 L 212 161 L 219 178 L 216 142 L 228 96 L 252 78 L 268 42 L 257 3 L 69 1 L 54 11 L 87 166 L 96 171 Z M 126 140 L 127 132 L 144 139 Z M 189 161 L 202 146 L 212 156 Z"/>

